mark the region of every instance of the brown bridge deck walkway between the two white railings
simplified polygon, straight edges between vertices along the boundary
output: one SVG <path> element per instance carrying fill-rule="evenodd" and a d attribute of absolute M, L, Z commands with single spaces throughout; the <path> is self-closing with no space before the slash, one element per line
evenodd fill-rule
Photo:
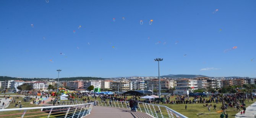
<path fill-rule="evenodd" d="M 90 115 L 85 118 L 152 118 L 143 112 L 131 112 L 126 108 L 93 106 Z"/>

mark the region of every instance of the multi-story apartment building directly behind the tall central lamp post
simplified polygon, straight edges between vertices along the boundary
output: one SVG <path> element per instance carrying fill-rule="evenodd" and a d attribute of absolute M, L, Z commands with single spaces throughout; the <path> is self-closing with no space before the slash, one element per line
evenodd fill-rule
<path fill-rule="evenodd" d="M 146 80 L 145 83 L 147 84 L 146 86 L 147 90 L 152 90 L 152 91 L 154 89 L 159 90 L 159 79 Z M 171 88 L 170 80 L 160 79 L 160 87 L 161 87 L 161 90 L 170 89 Z"/>

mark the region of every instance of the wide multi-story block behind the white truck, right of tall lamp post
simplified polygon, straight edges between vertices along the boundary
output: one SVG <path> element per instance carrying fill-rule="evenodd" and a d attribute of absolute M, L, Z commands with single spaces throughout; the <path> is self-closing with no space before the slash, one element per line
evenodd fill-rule
<path fill-rule="evenodd" d="M 193 90 L 198 89 L 197 80 L 191 80 L 191 79 L 180 79 L 176 80 L 176 90 L 190 90 L 193 92 Z"/>

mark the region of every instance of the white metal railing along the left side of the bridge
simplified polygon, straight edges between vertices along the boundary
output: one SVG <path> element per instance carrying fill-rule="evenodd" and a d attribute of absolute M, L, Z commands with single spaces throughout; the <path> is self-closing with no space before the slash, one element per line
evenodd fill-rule
<path fill-rule="evenodd" d="M 81 118 L 89 115 L 94 103 L 49 107 L 9 108 L 0 110 L 4 118 Z"/>

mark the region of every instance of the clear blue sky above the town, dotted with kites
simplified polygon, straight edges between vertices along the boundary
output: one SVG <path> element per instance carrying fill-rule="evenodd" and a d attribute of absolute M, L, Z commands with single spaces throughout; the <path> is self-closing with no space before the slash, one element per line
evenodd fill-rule
<path fill-rule="evenodd" d="M 57 69 L 60 77 L 158 76 L 154 58 L 163 58 L 160 75 L 256 77 L 255 4 L 1 0 L 0 76 L 57 78 Z"/>

